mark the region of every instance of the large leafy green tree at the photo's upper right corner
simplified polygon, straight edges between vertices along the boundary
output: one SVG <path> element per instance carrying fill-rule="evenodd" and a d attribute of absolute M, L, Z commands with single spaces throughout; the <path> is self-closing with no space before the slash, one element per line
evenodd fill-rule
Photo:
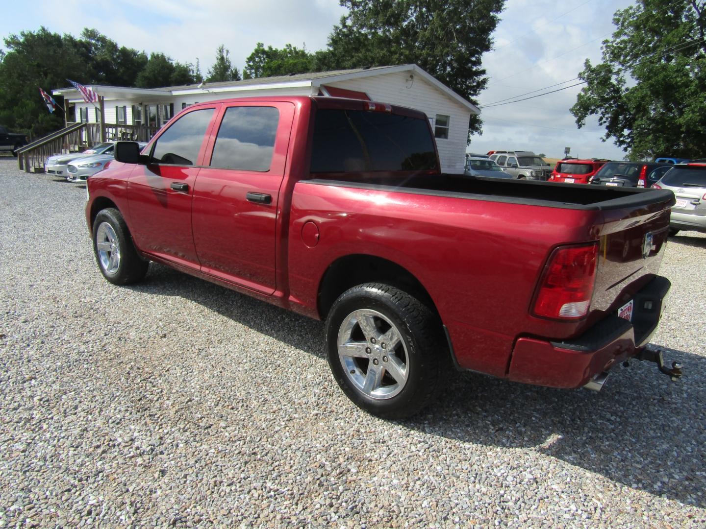
<path fill-rule="evenodd" d="M 571 113 L 597 116 L 630 159 L 706 152 L 706 14 L 703 1 L 638 0 L 616 11 L 602 63 L 585 61 Z"/>

